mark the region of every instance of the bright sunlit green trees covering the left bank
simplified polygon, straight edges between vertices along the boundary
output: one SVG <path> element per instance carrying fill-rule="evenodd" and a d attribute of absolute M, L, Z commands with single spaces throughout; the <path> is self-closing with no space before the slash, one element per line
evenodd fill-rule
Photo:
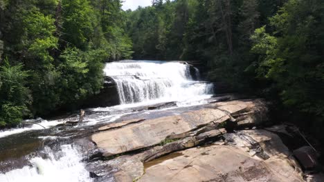
<path fill-rule="evenodd" d="M 98 93 L 131 57 L 125 23 L 119 0 L 0 0 L 0 127 Z"/>

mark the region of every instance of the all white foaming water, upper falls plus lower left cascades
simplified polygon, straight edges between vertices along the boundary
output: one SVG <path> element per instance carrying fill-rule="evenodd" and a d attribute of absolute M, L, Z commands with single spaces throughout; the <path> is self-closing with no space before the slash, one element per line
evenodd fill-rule
<path fill-rule="evenodd" d="M 105 65 L 105 74 L 116 82 L 121 105 L 96 108 L 98 113 L 90 114 L 75 128 L 86 130 L 87 125 L 108 123 L 134 112 L 127 107 L 131 103 L 163 103 L 176 101 L 177 106 L 201 104 L 200 101 L 213 94 L 213 84 L 199 81 L 199 70 L 185 63 L 165 61 L 118 61 Z M 105 112 L 101 112 L 105 111 Z M 63 123 L 64 120 L 46 121 L 42 119 L 26 121 L 32 123 L 21 128 L 0 131 L 0 138 L 18 135 L 30 130 Z M 42 126 L 44 128 L 42 128 Z M 74 130 L 74 129 L 73 129 Z M 71 131 L 73 131 L 71 129 Z M 57 139 L 64 136 L 39 136 L 39 139 Z M 60 143 L 57 143 L 60 144 Z M 24 168 L 0 172 L 1 182 L 89 182 L 89 172 L 82 162 L 82 152 L 75 145 L 62 145 L 58 150 L 45 147 L 42 155 L 26 156 L 28 165 Z M 44 157 L 46 156 L 46 157 Z"/>

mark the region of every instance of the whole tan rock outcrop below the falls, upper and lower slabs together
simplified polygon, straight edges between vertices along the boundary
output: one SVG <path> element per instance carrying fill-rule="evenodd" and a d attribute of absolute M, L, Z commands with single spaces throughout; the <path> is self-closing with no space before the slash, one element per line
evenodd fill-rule
<path fill-rule="evenodd" d="M 265 103 L 254 99 L 111 123 L 91 136 L 102 160 L 87 169 L 95 181 L 303 181 L 275 134 L 289 135 L 285 127 L 249 129 L 266 121 Z"/>

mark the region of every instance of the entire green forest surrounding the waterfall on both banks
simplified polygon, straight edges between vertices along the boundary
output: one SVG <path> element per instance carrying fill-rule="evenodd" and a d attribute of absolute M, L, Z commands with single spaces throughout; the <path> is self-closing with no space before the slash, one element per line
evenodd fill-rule
<path fill-rule="evenodd" d="M 122 3 L 0 0 L 0 126 L 97 94 L 105 62 L 184 60 L 323 137 L 323 0 Z"/>

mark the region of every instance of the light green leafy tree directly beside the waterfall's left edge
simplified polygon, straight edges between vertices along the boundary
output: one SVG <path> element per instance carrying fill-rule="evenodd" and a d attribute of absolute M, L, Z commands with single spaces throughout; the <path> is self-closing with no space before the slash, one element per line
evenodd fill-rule
<path fill-rule="evenodd" d="M 60 103 L 75 103 L 98 93 L 102 88 L 103 64 L 107 54 L 100 50 L 82 52 L 76 48 L 66 48 L 61 54 L 58 70 L 61 73 L 59 90 Z"/>

